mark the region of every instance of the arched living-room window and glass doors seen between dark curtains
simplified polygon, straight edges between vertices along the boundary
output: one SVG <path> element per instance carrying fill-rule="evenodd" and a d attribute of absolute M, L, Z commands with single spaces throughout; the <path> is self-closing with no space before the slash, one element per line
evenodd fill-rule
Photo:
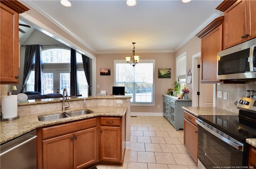
<path fill-rule="evenodd" d="M 82 54 L 76 53 L 78 65 L 79 94 L 88 96 L 88 84 L 82 65 Z M 63 93 L 66 88 L 70 95 L 70 50 L 53 48 L 42 51 L 43 91 L 42 94 Z M 34 70 L 26 85 L 27 91 L 34 91 Z"/>

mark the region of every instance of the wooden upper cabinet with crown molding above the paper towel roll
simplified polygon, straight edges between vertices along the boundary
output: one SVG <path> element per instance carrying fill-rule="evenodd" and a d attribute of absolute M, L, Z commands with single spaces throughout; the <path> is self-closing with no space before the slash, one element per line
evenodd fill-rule
<path fill-rule="evenodd" d="M 1 84 L 19 84 L 19 14 L 27 10 L 16 0 L 0 1 Z"/>

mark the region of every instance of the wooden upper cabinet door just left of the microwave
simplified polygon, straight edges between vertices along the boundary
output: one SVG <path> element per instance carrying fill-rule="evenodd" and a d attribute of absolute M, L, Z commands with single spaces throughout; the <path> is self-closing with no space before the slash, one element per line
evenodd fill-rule
<path fill-rule="evenodd" d="M 219 82 L 220 80 L 217 80 L 217 52 L 222 50 L 222 25 L 216 27 L 201 39 L 201 48 L 201 82 Z"/>

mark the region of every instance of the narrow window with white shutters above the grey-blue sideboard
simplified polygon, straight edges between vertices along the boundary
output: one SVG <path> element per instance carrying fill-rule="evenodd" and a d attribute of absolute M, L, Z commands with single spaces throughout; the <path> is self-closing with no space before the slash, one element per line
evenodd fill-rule
<path fill-rule="evenodd" d="M 187 52 L 176 58 L 176 79 L 180 79 L 181 86 L 186 84 Z"/>

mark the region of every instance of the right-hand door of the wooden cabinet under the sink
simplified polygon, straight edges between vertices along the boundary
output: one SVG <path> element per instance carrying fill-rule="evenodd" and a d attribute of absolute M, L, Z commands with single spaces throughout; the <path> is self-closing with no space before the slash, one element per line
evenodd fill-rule
<path fill-rule="evenodd" d="M 74 169 L 82 169 L 96 162 L 96 127 L 74 133 Z"/>

